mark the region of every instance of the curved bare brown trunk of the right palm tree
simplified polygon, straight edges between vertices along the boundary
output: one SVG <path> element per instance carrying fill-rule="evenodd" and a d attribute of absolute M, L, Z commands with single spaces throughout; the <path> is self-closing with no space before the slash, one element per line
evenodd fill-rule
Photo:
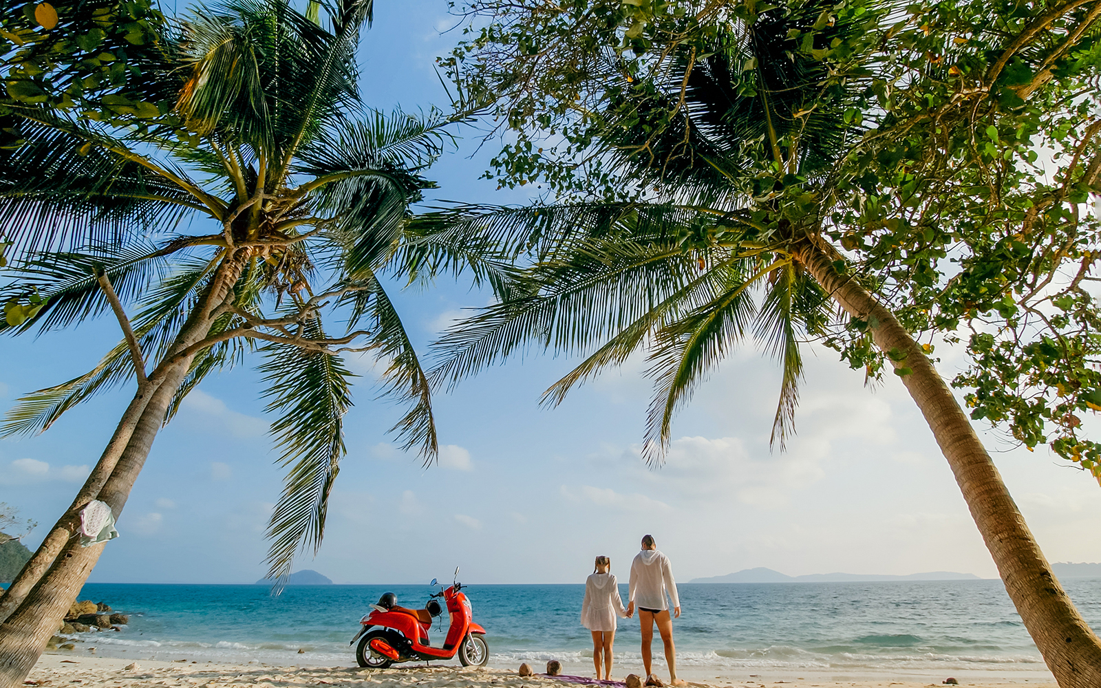
<path fill-rule="evenodd" d="M 841 274 L 832 247 L 805 240 L 796 259 L 849 315 L 868 321 L 925 416 L 956 476 L 963 500 L 998 566 L 1005 590 L 1060 688 L 1101 686 L 1101 641 L 1064 591 L 1010 495 L 998 468 L 951 390 L 922 348 L 887 308 Z"/>

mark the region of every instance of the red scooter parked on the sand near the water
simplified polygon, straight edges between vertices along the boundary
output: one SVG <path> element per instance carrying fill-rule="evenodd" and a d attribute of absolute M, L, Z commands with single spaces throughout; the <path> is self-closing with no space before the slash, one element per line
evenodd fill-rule
<path fill-rule="evenodd" d="M 455 575 L 458 577 L 459 569 L 455 569 Z M 436 579 L 428 585 L 435 586 Z M 392 592 L 382 596 L 379 604 L 371 604 L 373 611 L 359 620 L 363 627 L 349 643 L 359 640 L 356 646 L 359 666 L 384 669 L 400 662 L 453 659 L 456 655 L 462 666 L 486 666 L 489 662 L 486 629 L 472 621 L 470 600 L 460 590 L 462 585 L 456 580 L 450 588 L 429 597 L 424 609 L 397 607 Z M 451 618 L 443 647 L 428 643 L 432 620 L 443 613 L 437 598 L 444 598 Z"/>

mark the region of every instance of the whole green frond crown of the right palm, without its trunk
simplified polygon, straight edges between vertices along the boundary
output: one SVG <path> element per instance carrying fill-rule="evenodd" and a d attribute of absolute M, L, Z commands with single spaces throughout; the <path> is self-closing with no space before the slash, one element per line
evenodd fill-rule
<path fill-rule="evenodd" d="M 457 208 L 418 219 L 446 225 L 444 233 L 479 227 L 508 237 L 504 253 L 523 264 L 499 290 L 500 303 L 445 334 L 434 375 L 455 383 L 525 346 L 586 356 L 547 390 L 544 401 L 556 404 L 645 351 L 654 397 L 644 454 L 659 462 L 677 408 L 751 340 L 781 363 L 772 440 L 783 448 L 803 375 L 799 345 L 830 320 L 827 295 L 793 249 L 820 230 L 828 175 L 863 133 L 846 117 L 863 97 L 863 75 L 825 56 L 859 43 L 872 13 L 835 10 L 770 7 L 696 26 L 661 58 L 621 56 L 620 74 L 588 75 L 591 84 L 578 88 L 600 91 L 604 107 L 578 116 L 588 123 L 570 143 L 629 185 L 626 195 L 647 200 Z M 493 66 L 467 76 L 477 80 Z M 509 97 L 520 103 L 528 95 Z M 545 127 L 570 135 L 569 120 Z M 535 168 L 560 178 L 557 163 L 536 157 Z"/>

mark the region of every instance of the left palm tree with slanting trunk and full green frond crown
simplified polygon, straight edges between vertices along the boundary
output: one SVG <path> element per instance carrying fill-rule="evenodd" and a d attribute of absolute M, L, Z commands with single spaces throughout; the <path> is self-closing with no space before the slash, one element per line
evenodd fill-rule
<path fill-rule="evenodd" d="M 394 432 L 435 457 L 427 379 L 382 275 L 411 255 L 408 206 L 433 187 L 421 172 L 455 118 L 361 103 L 355 51 L 371 11 L 371 0 L 200 7 L 161 28 L 146 101 L 105 97 L 107 121 L 34 102 L 7 116 L 25 143 L 0 152 L 0 231 L 13 244 L 3 301 L 14 304 L 0 328 L 46 332 L 110 309 L 124 337 L 88 373 L 22 397 L 2 432 L 45 430 L 131 379 L 137 392 L 0 599 L 0 687 L 21 685 L 102 552 L 74 537 L 80 510 L 99 500 L 120 515 L 157 430 L 211 372 L 262 359 L 287 470 L 270 576 L 321 542 L 351 405 L 342 353 L 385 363 L 384 391 L 410 404 Z M 334 313 L 347 320 L 337 335 L 323 321 Z"/>

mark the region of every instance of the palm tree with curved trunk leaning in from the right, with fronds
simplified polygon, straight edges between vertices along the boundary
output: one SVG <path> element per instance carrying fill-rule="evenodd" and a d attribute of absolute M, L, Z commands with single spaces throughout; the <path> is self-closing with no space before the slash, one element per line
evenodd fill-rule
<path fill-rule="evenodd" d="M 458 206 L 418 218 L 417 231 L 456 243 L 491 233 L 527 264 L 509 297 L 435 345 L 442 361 L 433 375 L 455 384 L 527 346 L 587 353 L 544 394 L 557 404 L 575 384 L 645 349 L 655 385 L 645 456 L 654 465 L 675 409 L 752 336 L 781 359 L 773 440 L 782 447 L 797 402 L 799 341 L 826 331 L 824 306 L 832 299 L 925 415 L 1059 685 L 1097 686 L 1101 642 L 1051 574 L 968 416 L 874 283 L 825 233 L 832 175 L 865 132 L 844 114 L 865 84 L 860 72 L 815 57 L 860 30 L 826 25 L 824 8 L 765 11 L 710 45 L 675 53 L 667 70 L 634 91 L 643 95 L 610 101 L 598 132 L 603 160 L 654 200 Z M 810 50 L 799 50 L 796 36 L 807 35 Z M 626 79 L 614 61 L 602 76 Z"/>

